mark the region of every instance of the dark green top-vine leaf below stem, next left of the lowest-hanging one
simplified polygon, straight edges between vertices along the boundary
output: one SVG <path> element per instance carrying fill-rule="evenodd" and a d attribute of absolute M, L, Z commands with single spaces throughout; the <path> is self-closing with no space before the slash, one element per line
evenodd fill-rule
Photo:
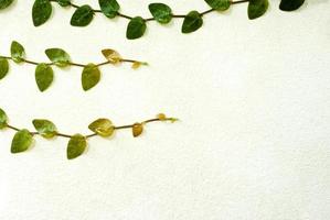
<path fill-rule="evenodd" d="M 94 16 L 93 9 L 85 4 L 79 7 L 71 18 L 71 25 L 73 26 L 87 26 Z"/>

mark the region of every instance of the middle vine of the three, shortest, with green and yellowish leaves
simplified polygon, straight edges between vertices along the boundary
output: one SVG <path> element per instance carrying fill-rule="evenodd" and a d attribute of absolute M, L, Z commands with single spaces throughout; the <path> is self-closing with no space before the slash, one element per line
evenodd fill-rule
<path fill-rule="evenodd" d="M 138 69 L 141 65 L 147 65 L 146 62 L 139 62 L 135 59 L 126 59 L 120 56 L 120 54 L 114 50 L 105 48 L 102 50 L 102 54 L 105 57 L 105 62 L 99 64 L 78 64 L 72 62 L 70 55 L 62 48 L 47 48 L 45 50 L 45 55 L 50 59 L 46 62 L 34 62 L 25 58 L 24 47 L 13 41 L 10 47 L 10 56 L 0 55 L 0 80 L 3 79 L 9 73 L 9 62 L 14 63 L 26 63 L 35 65 L 35 82 L 40 91 L 45 91 L 50 88 L 54 80 L 53 66 L 58 68 L 65 68 L 68 66 L 76 66 L 83 68 L 82 72 L 82 87 L 85 91 L 95 87 L 100 80 L 100 66 L 105 65 L 119 65 L 120 63 L 130 63 L 134 69 Z"/>

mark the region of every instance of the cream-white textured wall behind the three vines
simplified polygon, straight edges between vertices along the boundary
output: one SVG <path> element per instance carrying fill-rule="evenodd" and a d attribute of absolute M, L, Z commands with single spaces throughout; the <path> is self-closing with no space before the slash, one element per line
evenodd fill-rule
<path fill-rule="evenodd" d="M 10 154 L 13 132 L 0 132 L 1 220 L 327 220 L 330 217 L 330 1 L 307 0 L 286 13 L 270 1 L 248 21 L 246 4 L 212 13 L 196 33 L 174 20 L 151 22 L 145 37 L 125 38 L 127 20 L 95 16 L 72 28 L 72 9 L 54 4 L 41 28 L 32 0 L 0 13 L 0 54 L 12 40 L 28 57 L 65 48 L 76 62 L 100 62 L 102 48 L 150 63 L 102 67 L 100 84 L 81 88 L 81 69 L 55 69 L 44 94 L 34 66 L 11 63 L 0 81 L 0 108 L 10 122 L 33 130 L 51 119 L 66 133 L 89 133 L 99 117 L 117 124 L 166 112 L 177 124 L 155 123 L 139 139 L 120 131 L 89 140 L 66 160 L 65 139 L 36 138 Z M 75 0 L 77 4 L 97 1 Z M 123 12 L 150 16 L 153 1 L 120 0 Z M 164 0 L 178 13 L 207 9 L 203 0 Z"/>

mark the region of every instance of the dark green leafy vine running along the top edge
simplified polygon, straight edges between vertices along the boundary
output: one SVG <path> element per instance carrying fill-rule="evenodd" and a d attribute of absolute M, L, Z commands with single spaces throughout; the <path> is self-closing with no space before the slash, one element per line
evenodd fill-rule
<path fill-rule="evenodd" d="M 72 0 L 34 0 L 32 7 L 32 21 L 35 26 L 44 24 L 52 14 L 52 3 L 57 3 L 63 8 L 73 8 L 75 11 L 71 18 L 71 25 L 87 26 L 96 13 L 104 14 L 108 19 L 116 16 L 127 19 L 126 37 L 135 40 L 143 36 L 147 30 L 147 23 L 156 21 L 159 24 L 168 24 L 173 19 L 182 19 L 181 32 L 184 34 L 198 31 L 203 25 L 204 15 L 212 12 L 222 12 L 231 7 L 241 3 L 247 3 L 247 16 L 251 20 L 260 18 L 268 10 L 268 0 L 204 0 L 209 9 L 204 11 L 191 10 L 185 14 L 177 14 L 173 10 L 160 2 L 150 3 L 150 18 L 141 15 L 127 15 L 121 11 L 117 0 L 98 0 L 98 9 L 93 9 L 89 4 L 77 6 Z M 12 0 L 0 0 L 0 9 L 7 8 Z M 305 0 L 281 0 L 279 9 L 283 11 L 294 11 L 304 4 Z"/>

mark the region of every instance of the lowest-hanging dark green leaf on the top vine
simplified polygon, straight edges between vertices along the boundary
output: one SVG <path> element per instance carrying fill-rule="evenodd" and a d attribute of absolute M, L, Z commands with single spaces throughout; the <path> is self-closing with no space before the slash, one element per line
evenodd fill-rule
<path fill-rule="evenodd" d="M 147 29 L 145 19 L 141 16 L 132 18 L 127 26 L 126 37 L 128 40 L 135 40 L 141 37 Z"/>

